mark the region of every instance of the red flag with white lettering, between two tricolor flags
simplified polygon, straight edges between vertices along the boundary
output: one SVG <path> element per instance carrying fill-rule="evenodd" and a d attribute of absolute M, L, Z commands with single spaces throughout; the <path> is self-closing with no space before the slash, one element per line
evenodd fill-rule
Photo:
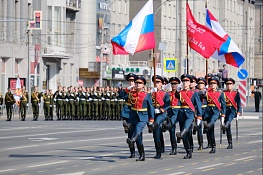
<path fill-rule="evenodd" d="M 186 25 L 189 46 L 205 58 L 212 56 L 226 41 L 208 27 L 197 23 L 188 3 L 186 3 Z"/>

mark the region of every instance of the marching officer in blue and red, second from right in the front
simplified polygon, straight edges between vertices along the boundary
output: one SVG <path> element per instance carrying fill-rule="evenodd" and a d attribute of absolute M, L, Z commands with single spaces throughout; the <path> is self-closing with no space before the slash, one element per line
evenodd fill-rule
<path fill-rule="evenodd" d="M 219 80 L 216 77 L 211 77 L 208 79 L 209 88 L 207 89 L 207 107 L 205 108 L 204 114 L 204 130 L 203 133 L 207 133 L 211 141 L 212 149 L 210 153 L 216 152 L 216 142 L 215 142 L 215 122 L 221 117 L 225 117 L 226 113 L 226 102 L 224 99 L 224 94 L 217 90 L 219 85 Z"/>

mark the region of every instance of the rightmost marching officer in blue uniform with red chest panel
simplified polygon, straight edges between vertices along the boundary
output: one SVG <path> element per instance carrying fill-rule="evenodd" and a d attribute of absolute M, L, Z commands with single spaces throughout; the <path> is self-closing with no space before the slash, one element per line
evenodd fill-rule
<path fill-rule="evenodd" d="M 238 91 L 234 91 L 235 80 L 232 78 L 225 79 L 226 90 L 224 91 L 224 97 L 226 101 L 226 115 L 221 118 L 222 129 L 226 131 L 228 146 L 227 149 L 232 149 L 232 133 L 231 133 L 231 121 L 238 117 L 241 113 L 241 100 Z M 223 131 L 223 133 L 224 133 Z"/>

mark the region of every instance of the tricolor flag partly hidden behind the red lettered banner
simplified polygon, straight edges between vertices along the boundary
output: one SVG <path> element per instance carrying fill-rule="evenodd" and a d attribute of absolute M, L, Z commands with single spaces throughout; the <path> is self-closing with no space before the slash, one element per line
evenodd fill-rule
<path fill-rule="evenodd" d="M 215 51 L 212 57 L 234 67 L 240 67 L 245 61 L 243 54 L 208 9 L 206 9 L 206 25 L 222 38 L 226 38 L 226 42 Z"/>

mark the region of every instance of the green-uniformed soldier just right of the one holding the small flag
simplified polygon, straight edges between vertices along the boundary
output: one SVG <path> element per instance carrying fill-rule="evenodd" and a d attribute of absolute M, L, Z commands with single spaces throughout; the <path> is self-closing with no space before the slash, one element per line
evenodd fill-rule
<path fill-rule="evenodd" d="M 38 92 L 37 86 L 34 86 L 34 91 L 31 93 L 31 103 L 32 103 L 32 110 L 33 110 L 33 121 L 37 121 L 38 120 L 41 96 L 42 96 L 42 93 Z"/>

